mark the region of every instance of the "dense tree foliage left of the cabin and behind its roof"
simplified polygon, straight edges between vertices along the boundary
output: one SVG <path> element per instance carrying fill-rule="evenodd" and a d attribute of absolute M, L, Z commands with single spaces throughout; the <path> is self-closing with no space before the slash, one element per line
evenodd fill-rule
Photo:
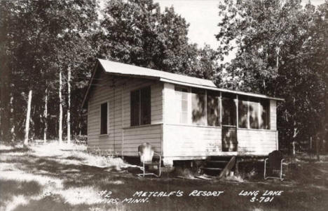
<path fill-rule="evenodd" d="M 57 138 L 60 106 L 63 119 L 69 110 L 67 85 L 71 131 L 86 133 L 79 108 L 95 57 L 213 78 L 217 52 L 189 42 L 189 24 L 174 8 L 161 11 L 153 1 L 109 0 L 101 19 L 99 12 L 96 0 L 0 1 L 2 140 L 22 138 L 30 90 L 30 138 L 43 138 L 45 130 L 48 138 Z"/>

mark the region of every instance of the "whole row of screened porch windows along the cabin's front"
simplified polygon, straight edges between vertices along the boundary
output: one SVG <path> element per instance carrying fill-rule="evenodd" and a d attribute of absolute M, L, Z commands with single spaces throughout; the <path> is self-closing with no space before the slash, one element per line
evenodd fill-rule
<path fill-rule="evenodd" d="M 270 101 L 266 99 L 238 95 L 237 100 L 236 94 L 220 96 L 212 90 L 176 86 L 175 108 L 180 124 L 270 129 Z"/>

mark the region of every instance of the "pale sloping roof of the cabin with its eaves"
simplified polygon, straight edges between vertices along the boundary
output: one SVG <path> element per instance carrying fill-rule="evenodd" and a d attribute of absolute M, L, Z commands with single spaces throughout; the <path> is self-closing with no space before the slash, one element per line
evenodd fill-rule
<path fill-rule="evenodd" d="M 264 94 L 255 94 L 251 92 L 240 92 L 234 91 L 230 89 L 221 89 L 218 88 L 211 80 L 205 80 L 201 78 L 180 75 L 177 73 L 168 73 L 165 71 L 157 71 L 151 68 L 144 68 L 140 66 L 134 66 L 130 64 L 123 64 L 116 61 L 109 61 L 104 59 L 97 59 L 97 64 L 95 65 L 95 69 L 93 71 L 93 75 L 89 81 L 88 89 L 86 90 L 86 94 L 84 95 L 82 106 L 85 106 L 86 100 L 88 98 L 88 94 L 90 91 L 90 87 L 92 85 L 93 78 L 95 76 L 95 72 L 97 71 L 97 66 L 101 66 L 105 73 L 109 73 L 111 75 L 121 75 L 121 76 L 130 76 L 137 78 L 148 78 L 152 80 L 159 80 L 163 82 L 170 82 L 177 85 L 185 85 L 189 87 L 198 87 L 203 89 L 212 89 L 219 92 L 227 92 L 232 94 L 240 94 L 245 96 L 254 96 L 262 99 L 273 99 L 276 101 L 284 101 L 284 99 L 275 98 L 271 96 L 266 96 Z"/>

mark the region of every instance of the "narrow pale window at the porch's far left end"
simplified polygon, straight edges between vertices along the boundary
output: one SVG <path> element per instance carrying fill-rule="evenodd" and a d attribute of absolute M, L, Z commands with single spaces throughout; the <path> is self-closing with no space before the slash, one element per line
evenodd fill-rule
<path fill-rule="evenodd" d="M 175 87 L 175 99 L 177 102 L 177 117 L 179 123 L 188 124 L 188 93 L 189 90 L 184 87 Z M 173 106 L 173 105 L 172 105 Z"/>

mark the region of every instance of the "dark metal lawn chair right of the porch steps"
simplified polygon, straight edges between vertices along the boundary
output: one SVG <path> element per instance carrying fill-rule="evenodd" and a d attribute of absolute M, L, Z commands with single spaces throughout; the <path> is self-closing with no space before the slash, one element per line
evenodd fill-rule
<path fill-rule="evenodd" d="M 282 164 L 284 160 L 282 153 L 278 150 L 268 154 L 268 158 L 264 160 L 264 180 L 268 178 L 284 180 L 282 178 Z"/>

